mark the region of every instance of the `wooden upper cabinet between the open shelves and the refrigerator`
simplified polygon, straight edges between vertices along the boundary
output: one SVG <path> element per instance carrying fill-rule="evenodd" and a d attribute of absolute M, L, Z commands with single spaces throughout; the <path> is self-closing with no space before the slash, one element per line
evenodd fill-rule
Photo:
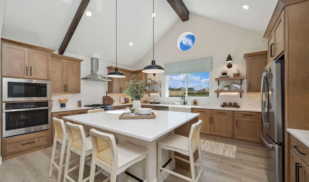
<path fill-rule="evenodd" d="M 261 78 L 267 65 L 267 51 L 244 54 L 246 59 L 247 92 L 261 91 Z"/>

